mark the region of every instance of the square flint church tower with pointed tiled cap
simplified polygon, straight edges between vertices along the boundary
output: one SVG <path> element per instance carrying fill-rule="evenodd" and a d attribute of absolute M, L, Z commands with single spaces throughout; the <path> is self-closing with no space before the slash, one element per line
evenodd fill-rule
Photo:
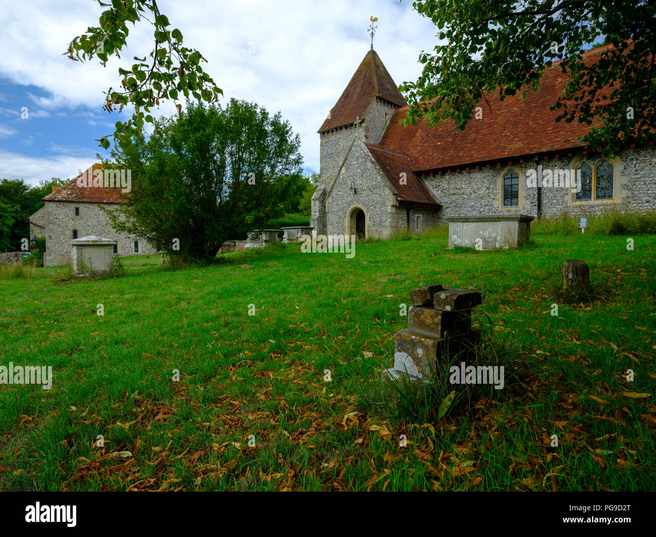
<path fill-rule="evenodd" d="M 325 191 L 330 189 L 353 141 L 359 138 L 377 144 L 394 111 L 406 105 L 372 45 L 318 130 L 321 178 L 312 197 L 310 223 L 316 233 L 326 233 Z"/>

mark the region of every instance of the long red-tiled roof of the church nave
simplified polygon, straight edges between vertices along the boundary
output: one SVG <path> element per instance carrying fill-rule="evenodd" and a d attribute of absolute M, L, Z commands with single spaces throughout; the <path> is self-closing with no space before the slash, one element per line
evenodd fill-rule
<path fill-rule="evenodd" d="M 586 54 L 586 64 L 598 61 L 598 54 L 606 49 L 595 49 Z M 426 120 L 417 125 L 403 127 L 408 107 L 394 113 L 379 146 L 406 153 L 414 171 L 445 167 L 463 167 L 472 163 L 508 160 L 521 155 L 534 155 L 582 147 L 578 140 L 592 125 L 555 121 L 559 110 L 550 111 L 567 85 L 567 75 L 562 73 L 560 62 L 544 71 L 537 92 L 527 92 L 525 100 L 520 93 L 499 100 L 498 92 L 488 94 L 478 104 L 482 119 L 472 119 L 461 132 L 455 131 L 455 123 L 441 121 L 428 127 Z M 610 91 L 610 89 L 608 89 Z"/>

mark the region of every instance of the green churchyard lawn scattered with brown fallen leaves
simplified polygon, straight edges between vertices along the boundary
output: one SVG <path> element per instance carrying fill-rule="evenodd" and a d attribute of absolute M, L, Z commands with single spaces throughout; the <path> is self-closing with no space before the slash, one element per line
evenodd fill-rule
<path fill-rule="evenodd" d="M 53 380 L 0 386 L 0 489 L 653 490 L 656 235 L 633 238 L 476 252 L 438 231 L 352 259 L 274 245 L 205 268 L 129 258 L 124 278 L 4 277 L 0 365 Z M 571 258 L 595 300 L 554 298 Z M 400 304 L 434 283 L 482 290 L 510 351 L 504 389 L 427 421 L 371 397 Z"/>

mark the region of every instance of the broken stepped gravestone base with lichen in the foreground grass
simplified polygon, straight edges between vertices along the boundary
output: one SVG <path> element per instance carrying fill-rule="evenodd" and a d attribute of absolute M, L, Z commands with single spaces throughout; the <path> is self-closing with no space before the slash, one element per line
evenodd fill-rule
<path fill-rule="evenodd" d="M 410 292 L 408 328 L 396 333 L 394 367 L 382 372 L 383 382 L 428 382 L 430 372 L 449 355 L 472 349 L 480 330 L 472 330 L 472 309 L 482 303 L 478 291 L 430 285 Z"/>

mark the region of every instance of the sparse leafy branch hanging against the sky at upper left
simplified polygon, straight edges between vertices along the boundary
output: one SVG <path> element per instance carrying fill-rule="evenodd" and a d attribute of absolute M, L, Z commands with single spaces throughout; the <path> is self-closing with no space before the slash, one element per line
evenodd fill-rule
<path fill-rule="evenodd" d="M 144 19 L 154 26 L 154 49 L 149 56 L 134 56 L 136 63 L 131 70 L 119 68 L 121 87 L 110 87 L 105 92 L 104 108 L 112 113 L 128 104 L 134 106 L 131 119 L 115 123 L 113 134 L 102 136 L 100 146 L 110 147 L 109 136 L 114 138 L 114 148 L 126 142 L 134 134 L 139 135 L 144 122 L 152 123 L 150 115 L 153 106 L 160 100 L 177 100 L 180 94 L 188 98 L 190 94 L 198 101 L 213 102 L 222 90 L 216 87 L 213 79 L 201 68 L 201 61 L 207 62 L 195 49 L 182 46 L 182 33 L 175 28 L 170 30 L 169 19 L 159 12 L 155 0 L 112 0 L 112 5 L 98 0 L 108 9 L 98 20 L 99 26 L 87 28 L 87 32 L 73 39 L 64 52 L 73 61 L 85 62 L 96 56 L 106 66 L 110 56 L 121 58 L 119 51 L 127 45 L 128 23 L 133 26 Z M 150 16 L 150 18 L 149 18 Z M 151 20 L 152 18 L 152 20 Z M 180 104 L 176 104 L 180 109 Z"/>

